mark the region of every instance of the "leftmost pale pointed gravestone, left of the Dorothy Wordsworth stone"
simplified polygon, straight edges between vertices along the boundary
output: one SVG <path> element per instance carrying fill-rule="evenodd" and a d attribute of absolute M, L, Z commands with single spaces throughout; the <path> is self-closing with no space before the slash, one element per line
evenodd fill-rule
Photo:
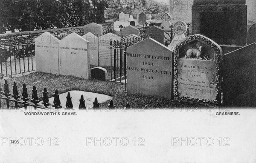
<path fill-rule="evenodd" d="M 36 71 L 60 74 L 59 40 L 49 32 L 35 38 Z"/>

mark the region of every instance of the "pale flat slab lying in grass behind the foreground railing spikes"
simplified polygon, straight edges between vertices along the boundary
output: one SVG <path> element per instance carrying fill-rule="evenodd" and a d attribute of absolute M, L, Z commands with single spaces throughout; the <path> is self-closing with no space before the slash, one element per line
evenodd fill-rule
<path fill-rule="evenodd" d="M 66 108 L 67 93 L 68 92 L 62 93 L 59 96 L 60 97 L 60 101 L 61 101 L 61 106 L 62 106 L 61 109 L 65 109 Z M 52 93 L 52 94 L 54 94 L 54 93 Z M 111 100 L 113 98 L 113 97 L 105 95 L 105 94 L 98 94 L 98 93 L 93 93 L 93 92 L 70 91 L 70 97 L 72 97 L 73 109 L 75 109 L 75 110 L 77 110 L 79 108 L 79 100 L 81 98 L 81 95 L 84 96 L 86 109 L 92 109 L 93 108 L 93 102 L 95 100 L 95 97 L 97 97 L 98 103 L 104 103 L 104 102 L 106 102 L 108 100 Z M 49 103 L 51 104 L 49 106 L 49 109 L 54 109 L 54 107 L 52 107 L 53 100 L 54 100 L 54 97 L 49 98 Z M 40 104 L 42 102 L 43 101 L 40 101 Z"/>

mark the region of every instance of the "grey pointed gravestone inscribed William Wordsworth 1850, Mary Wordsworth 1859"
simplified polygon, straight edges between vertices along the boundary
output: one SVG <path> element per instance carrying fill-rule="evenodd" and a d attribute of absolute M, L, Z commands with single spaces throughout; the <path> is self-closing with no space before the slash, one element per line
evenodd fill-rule
<path fill-rule="evenodd" d="M 173 52 L 152 38 L 127 48 L 127 93 L 172 99 Z"/>

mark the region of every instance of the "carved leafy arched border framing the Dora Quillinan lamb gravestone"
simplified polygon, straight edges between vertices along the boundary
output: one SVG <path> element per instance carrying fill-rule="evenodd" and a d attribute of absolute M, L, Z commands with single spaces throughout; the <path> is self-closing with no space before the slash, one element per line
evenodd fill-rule
<path fill-rule="evenodd" d="M 189 98 L 185 96 L 180 96 L 178 92 L 178 59 L 179 59 L 179 54 L 178 50 L 180 49 L 181 46 L 185 45 L 188 42 L 191 42 L 193 40 L 201 40 L 202 42 L 206 43 L 209 45 L 211 48 L 214 49 L 215 51 L 215 65 L 216 65 L 216 80 L 215 80 L 215 100 L 207 100 L 207 99 L 195 99 L 195 98 Z M 178 43 L 175 46 L 175 51 L 174 51 L 174 97 L 175 100 L 177 101 L 186 101 L 186 102 L 198 102 L 198 103 L 215 103 L 215 104 L 220 104 L 221 103 L 221 49 L 218 48 L 218 46 L 212 42 L 212 40 L 207 39 L 206 37 L 203 37 L 202 35 L 191 35 L 187 37 L 185 40 L 182 42 Z"/>

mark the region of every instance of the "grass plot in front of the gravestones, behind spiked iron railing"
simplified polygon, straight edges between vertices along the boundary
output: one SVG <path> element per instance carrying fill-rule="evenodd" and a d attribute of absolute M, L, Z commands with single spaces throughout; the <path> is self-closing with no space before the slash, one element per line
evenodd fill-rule
<path fill-rule="evenodd" d="M 18 92 L 21 96 L 23 83 L 26 83 L 29 97 L 32 96 L 32 86 L 35 85 L 38 90 L 39 100 L 42 100 L 43 89 L 47 88 L 48 96 L 53 97 L 55 89 L 58 89 L 59 94 L 72 90 L 79 90 L 85 92 L 94 92 L 99 94 L 106 94 L 113 97 L 113 103 L 117 108 L 124 108 L 126 103 L 129 102 L 131 108 L 144 108 L 145 105 L 150 108 L 195 108 L 207 107 L 199 103 L 185 103 L 177 102 L 166 98 L 157 98 L 145 95 L 130 95 L 125 92 L 125 85 L 116 82 L 104 82 L 99 80 L 84 80 L 73 76 L 61 76 L 42 72 L 35 72 L 23 77 L 12 77 L 8 80 L 9 90 L 12 94 L 12 84 L 15 81 L 18 86 Z M 1 88 L 3 89 L 4 80 L 0 80 Z M 5 100 L 1 100 L 2 107 L 4 108 Z M 61 102 L 62 106 L 65 105 Z M 109 101 L 100 104 L 100 108 L 106 108 Z M 10 102 L 10 106 L 14 107 L 14 103 Z M 22 107 L 21 105 L 19 107 Z M 65 107 L 65 106 L 64 106 Z"/>

